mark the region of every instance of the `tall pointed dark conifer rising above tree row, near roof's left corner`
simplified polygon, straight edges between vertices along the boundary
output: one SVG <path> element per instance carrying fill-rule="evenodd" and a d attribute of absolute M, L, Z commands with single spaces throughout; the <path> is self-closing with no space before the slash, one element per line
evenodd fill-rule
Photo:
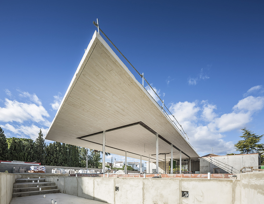
<path fill-rule="evenodd" d="M 38 138 L 35 140 L 35 153 L 36 153 L 36 161 L 41 163 L 41 165 L 46 165 L 45 159 L 45 140 L 43 138 L 42 131 L 40 129 L 38 133 Z"/>

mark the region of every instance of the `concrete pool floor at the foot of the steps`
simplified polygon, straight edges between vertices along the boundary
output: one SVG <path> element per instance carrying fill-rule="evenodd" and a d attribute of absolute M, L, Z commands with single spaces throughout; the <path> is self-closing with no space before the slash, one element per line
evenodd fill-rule
<path fill-rule="evenodd" d="M 17 197 L 12 198 L 9 204 L 47 204 L 51 203 L 51 199 L 53 201 L 57 201 L 57 204 L 71 204 L 71 203 L 85 203 L 85 204 L 105 204 L 105 202 L 100 202 L 96 200 L 90 200 L 87 198 L 80 198 L 74 195 L 68 195 L 64 193 L 52 193 L 46 194 L 46 198 L 43 198 L 43 195 L 32 195 L 32 196 L 25 196 L 25 197 Z"/>

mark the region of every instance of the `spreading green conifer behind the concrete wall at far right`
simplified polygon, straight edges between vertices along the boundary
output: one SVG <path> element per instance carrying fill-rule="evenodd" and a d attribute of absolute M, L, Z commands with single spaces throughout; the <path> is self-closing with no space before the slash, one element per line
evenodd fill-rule
<path fill-rule="evenodd" d="M 244 139 L 235 144 L 236 150 L 240 151 L 240 154 L 254 154 L 264 151 L 264 143 L 258 144 L 263 135 L 256 135 L 247 128 L 241 130 L 243 130 L 243 135 L 240 137 Z"/>

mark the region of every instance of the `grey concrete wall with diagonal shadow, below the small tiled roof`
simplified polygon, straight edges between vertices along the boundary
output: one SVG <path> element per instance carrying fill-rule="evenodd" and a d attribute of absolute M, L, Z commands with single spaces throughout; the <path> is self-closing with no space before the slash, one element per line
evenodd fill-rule
<path fill-rule="evenodd" d="M 200 173 L 239 173 L 243 167 L 254 166 L 258 169 L 259 154 L 240 154 L 200 158 Z"/>

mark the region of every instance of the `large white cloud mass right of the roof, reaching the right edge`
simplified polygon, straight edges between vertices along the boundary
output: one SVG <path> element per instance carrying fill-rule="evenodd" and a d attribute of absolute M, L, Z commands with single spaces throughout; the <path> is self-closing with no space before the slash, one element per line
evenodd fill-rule
<path fill-rule="evenodd" d="M 232 112 L 225 114 L 216 114 L 216 105 L 208 101 L 199 104 L 178 102 L 170 106 L 170 111 L 198 153 L 208 154 L 213 147 L 215 154 L 224 155 L 235 152 L 233 142 L 225 141 L 225 132 L 245 127 L 252 120 L 252 114 L 263 109 L 263 106 L 264 97 L 250 96 L 240 100 Z"/>

